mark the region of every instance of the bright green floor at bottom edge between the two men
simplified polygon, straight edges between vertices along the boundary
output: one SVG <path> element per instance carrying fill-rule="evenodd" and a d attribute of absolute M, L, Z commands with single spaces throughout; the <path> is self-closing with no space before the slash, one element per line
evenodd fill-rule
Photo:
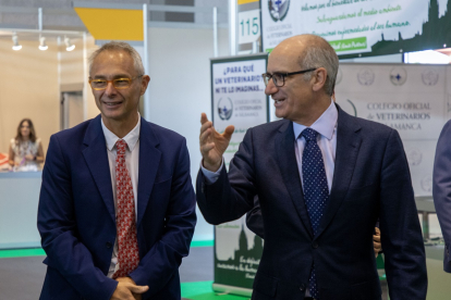
<path fill-rule="evenodd" d="M 182 287 L 182 298 L 190 300 L 247 300 L 248 297 L 234 295 L 217 295 L 211 289 L 212 282 L 184 283 Z"/>

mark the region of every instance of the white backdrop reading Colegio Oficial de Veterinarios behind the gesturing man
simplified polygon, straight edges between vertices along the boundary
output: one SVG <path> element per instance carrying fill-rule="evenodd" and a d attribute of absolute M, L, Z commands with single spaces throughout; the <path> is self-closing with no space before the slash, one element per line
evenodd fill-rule
<path fill-rule="evenodd" d="M 431 196 L 436 145 L 449 118 L 446 65 L 340 64 L 337 103 L 401 136 L 415 196 Z"/>

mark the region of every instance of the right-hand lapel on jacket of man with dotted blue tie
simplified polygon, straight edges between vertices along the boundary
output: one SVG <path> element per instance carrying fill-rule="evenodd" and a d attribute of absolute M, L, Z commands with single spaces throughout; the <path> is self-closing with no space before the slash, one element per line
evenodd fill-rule
<path fill-rule="evenodd" d="M 325 214 L 319 224 L 317 237 L 332 221 L 346 196 L 362 142 L 359 135 L 361 126 L 355 122 L 355 118 L 343 112 L 340 107 L 337 105 L 337 108 L 339 110 L 339 116 L 332 188 L 329 203 L 326 207 Z"/>

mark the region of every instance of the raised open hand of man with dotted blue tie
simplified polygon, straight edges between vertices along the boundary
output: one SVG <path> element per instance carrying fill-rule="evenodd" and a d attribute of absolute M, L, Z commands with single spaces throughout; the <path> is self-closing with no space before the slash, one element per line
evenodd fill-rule
<path fill-rule="evenodd" d="M 216 172 L 221 166 L 222 154 L 229 147 L 232 134 L 235 130 L 233 125 L 227 126 L 223 134 L 215 130 L 212 122 L 208 121 L 207 115 L 200 115 L 200 153 L 204 159 L 204 167 L 208 171 Z"/>

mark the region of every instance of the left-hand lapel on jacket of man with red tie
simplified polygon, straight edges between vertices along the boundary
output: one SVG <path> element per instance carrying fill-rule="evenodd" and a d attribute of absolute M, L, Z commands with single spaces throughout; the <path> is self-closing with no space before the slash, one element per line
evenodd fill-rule
<path fill-rule="evenodd" d="M 103 199 L 105 205 L 112 221 L 115 223 L 110 165 L 108 162 L 107 143 L 101 129 L 100 115 L 89 123 L 83 143 L 86 147 L 82 150 L 83 157 Z"/>

